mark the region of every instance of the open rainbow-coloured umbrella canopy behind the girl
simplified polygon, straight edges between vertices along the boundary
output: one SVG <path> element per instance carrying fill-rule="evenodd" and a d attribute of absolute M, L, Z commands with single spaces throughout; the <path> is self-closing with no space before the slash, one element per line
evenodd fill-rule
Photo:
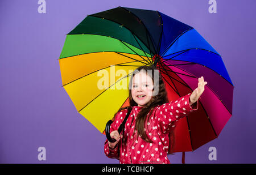
<path fill-rule="evenodd" d="M 208 82 L 199 109 L 179 120 L 173 152 L 193 151 L 217 138 L 232 116 L 234 86 L 220 54 L 195 28 L 159 11 L 117 7 L 82 20 L 68 33 L 59 58 L 65 91 L 101 133 L 129 105 L 131 71 L 154 62 L 170 101 L 191 93 L 199 77 Z M 100 71 L 108 88 L 98 88 Z M 118 89 L 123 83 L 127 88 Z"/>

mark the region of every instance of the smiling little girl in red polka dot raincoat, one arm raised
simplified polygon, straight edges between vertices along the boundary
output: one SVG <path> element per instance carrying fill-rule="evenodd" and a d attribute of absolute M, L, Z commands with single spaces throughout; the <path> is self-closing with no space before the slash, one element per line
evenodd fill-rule
<path fill-rule="evenodd" d="M 180 118 L 198 109 L 197 100 L 207 82 L 204 82 L 202 76 L 199 78 L 198 87 L 192 93 L 168 102 L 161 75 L 159 74 L 158 80 L 154 80 L 154 67 L 141 66 L 136 70 L 129 83 L 130 106 L 120 108 L 115 113 L 110 126 L 110 136 L 116 142 L 106 140 L 105 155 L 125 164 L 170 164 L 167 158 L 169 134 Z M 147 74 L 147 70 L 151 70 L 152 75 Z M 154 81 L 158 82 L 156 86 L 159 91 L 157 95 L 152 96 L 156 88 Z M 125 119 L 128 109 L 131 110 L 130 116 L 127 118 L 123 133 L 119 135 L 118 127 Z"/>

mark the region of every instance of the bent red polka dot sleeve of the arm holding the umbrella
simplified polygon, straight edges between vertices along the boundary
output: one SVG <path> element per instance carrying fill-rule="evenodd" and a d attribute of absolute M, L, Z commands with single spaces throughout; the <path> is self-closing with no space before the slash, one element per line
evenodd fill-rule
<path fill-rule="evenodd" d="M 118 127 L 121 125 L 123 118 L 125 117 L 124 115 L 125 112 L 126 110 L 122 110 L 121 112 L 117 113 L 113 123 L 110 126 L 110 129 L 109 129 L 110 133 L 112 131 L 118 130 Z M 115 145 L 114 149 L 111 149 L 109 147 L 108 139 L 106 139 L 105 145 L 104 145 L 104 153 L 107 157 L 119 160 L 119 148 L 120 148 L 120 141 Z"/>

